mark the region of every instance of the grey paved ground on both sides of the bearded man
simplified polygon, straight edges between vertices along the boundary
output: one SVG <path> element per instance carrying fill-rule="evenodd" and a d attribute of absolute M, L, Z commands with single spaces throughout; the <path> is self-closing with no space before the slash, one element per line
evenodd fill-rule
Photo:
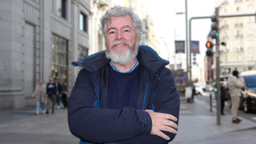
<path fill-rule="evenodd" d="M 179 130 L 173 143 L 256 143 L 256 123 L 241 118 L 231 123 L 230 115 L 221 116 L 217 125 L 216 110 L 210 112 L 208 103 L 194 99 L 188 103 L 181 98 Z M 242 133 L 242 137 L 241 137 Z M 35 107 L 0 110 L 0 143 L 79 143 L 69 131 L 67 109 L 54 114 L 35 115 Z"/>

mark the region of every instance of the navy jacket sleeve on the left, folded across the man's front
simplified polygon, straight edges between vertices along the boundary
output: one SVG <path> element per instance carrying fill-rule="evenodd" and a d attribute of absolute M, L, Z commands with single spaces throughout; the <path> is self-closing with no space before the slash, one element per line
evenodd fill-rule
<path fill-rule="evenodd" d="M 83 141 L 113 142 L 130 139 L 133 135 L 149 134 L 143 129 L 147 113 L 127 107 L 118 110 L 97 108 L 94 84 L 89 71 L 82 69 L 68 99 L 68 123 L 70 132 Z"/>

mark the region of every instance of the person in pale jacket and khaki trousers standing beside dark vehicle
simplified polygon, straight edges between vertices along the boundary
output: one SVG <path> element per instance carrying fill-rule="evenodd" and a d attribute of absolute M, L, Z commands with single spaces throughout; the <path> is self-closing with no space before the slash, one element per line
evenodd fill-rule
<path fill-rule="evenodd" d="M 237 111 L 239 108 L 242 87 L 242 79 L 238 76 L 238 71 L 234 70 L 233 75 L 228 78 L 228 92 L 231 98 L 231 118 L 233 123 L 241 122 L 241 119 L 237 118 Z"/>

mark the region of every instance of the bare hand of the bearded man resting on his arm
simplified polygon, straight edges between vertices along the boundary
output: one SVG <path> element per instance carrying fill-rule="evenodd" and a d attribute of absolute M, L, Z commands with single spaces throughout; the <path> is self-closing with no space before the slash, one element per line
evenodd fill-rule
<path fill-rule="evenodd" d="M 150 134 L 158 135 L 161 138 L 170 140 L 170 138 L 161 131 L 171 132 L 176 134 L 178 125 L 172 121 L 177 121 L 177 118 L 170 114 L 155 113 L 153 110 L 145 110 L 152 119 L 152 130 Z M 172 121 L 170 121 L 172 120 Z"/>

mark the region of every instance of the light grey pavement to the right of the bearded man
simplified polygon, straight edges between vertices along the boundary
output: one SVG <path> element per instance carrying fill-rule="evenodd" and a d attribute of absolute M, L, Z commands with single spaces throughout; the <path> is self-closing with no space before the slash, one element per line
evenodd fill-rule
<path fill-rule="evenodd" d="M 211 112 L 209 104 L 204 101 L 195 98 L 193 103 L 188 103 L 185 98 L 181 98 L 179 129 L 170 144 L 241 143 L 239 142 L 241 138 L 245 139 L 242 143 L 255 143 L 256 123 L 244 118 L 241 119 L 240 124 L 235 124 L 231 123 L 230 115 L 221 115 L 221 125 L 217 125 L 215 108 L 212 108 Z M 249 130 L 246 132 L 247 135 L 242 132 L 244 130 Z M 241 137 L 242 135 L 244 138 Z"/>

